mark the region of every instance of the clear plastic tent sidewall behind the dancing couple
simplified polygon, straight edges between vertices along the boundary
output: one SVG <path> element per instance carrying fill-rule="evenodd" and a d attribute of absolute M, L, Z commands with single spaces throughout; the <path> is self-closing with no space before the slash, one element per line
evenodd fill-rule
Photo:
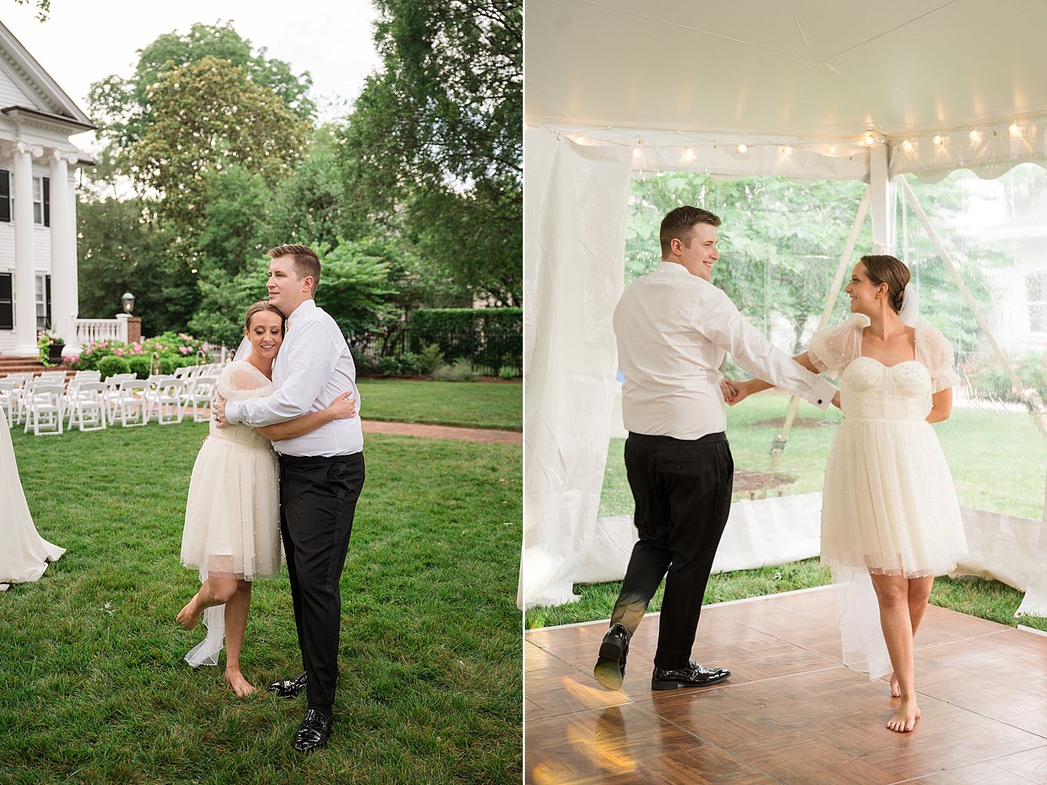
<path fill-rule="evenodd" d="M 626 220 L 625 285 L 658 265 L 659 223 L 666 212 L 681 204 L 705 208 L 723 221 L 713 282 L 772 343 L 794 355 L 803 352 L 823 317 L 866 184 L 798 183 L 770 176 L 723 181 L 677 172 L 634 175 Z M 1026 163 L 998 179 L 962 170 L 935 183 L 913 175 L 899 177 L 907 178 L 911 196 L 895 178 L 890 186 L 888 249 L 910 267 L 920 317 L 942 331 L 956 354 L 961 385 L 954 391 L 952 416 L 935 430 L 960 503 L 1038 520 L 1044 509 L 1047 439 L 1035 422 L 1040 415 L 1030 409 L 1047 397 L 1047 172 Z M 917 204 L 1003 358 L 932 242 Z M 866 217 L 856 231 L 850 264 L 871 247 Z M 827 323 L 837 324 L 848 312 L 849 300 L 841 290 Z M 730 358 L 723 372 L 748 377 Z M 786 429 L 788 406 L 789 396 L 768 391 L 729 410 L 735 501 L 821 489 L 840 413 L 823 413 L 801 402 Z M 612 426 L 601 517 L 632 513 L 623 444 L 620 423 Z"/>

